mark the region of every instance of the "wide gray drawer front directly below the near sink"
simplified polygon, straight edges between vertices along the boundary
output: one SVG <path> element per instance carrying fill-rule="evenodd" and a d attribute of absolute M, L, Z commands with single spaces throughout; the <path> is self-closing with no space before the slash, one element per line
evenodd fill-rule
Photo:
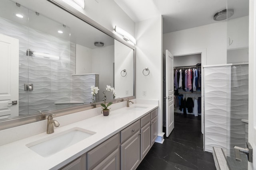
<path fill-rule="evenodd" d="M 120 145 L 119 133 L 88 152 L 88 169 L 91 170 Z"/>

